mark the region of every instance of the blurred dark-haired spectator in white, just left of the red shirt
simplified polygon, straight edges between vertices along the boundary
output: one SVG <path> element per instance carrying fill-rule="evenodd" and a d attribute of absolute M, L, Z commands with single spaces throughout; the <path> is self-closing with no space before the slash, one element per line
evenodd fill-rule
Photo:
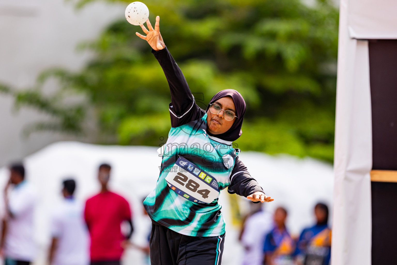
<path fill-rule="evenodd" d="M 51 222 L 50 265 L 87 265 L 88 238 L 83 220 L 83 205 L 75 200 L 76 183 L 63 183 L 64 200 L 57 205 Z"/>

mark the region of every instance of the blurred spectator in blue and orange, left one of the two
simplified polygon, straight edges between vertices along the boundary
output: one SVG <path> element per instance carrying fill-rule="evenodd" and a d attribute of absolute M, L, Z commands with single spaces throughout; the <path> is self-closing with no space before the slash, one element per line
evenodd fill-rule
<path fill-rule="evenodd" d="M 274 212 L 274 228 L 266 235 L 263 247 L 264 264 L 293 265 L 295 242 L 285 227 L 287 210 L 278 207 Z"/>

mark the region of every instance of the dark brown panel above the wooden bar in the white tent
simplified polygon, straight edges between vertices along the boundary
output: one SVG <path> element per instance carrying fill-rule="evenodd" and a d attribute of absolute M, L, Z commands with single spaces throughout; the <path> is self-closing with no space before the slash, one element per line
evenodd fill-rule
<path fill-rule="evenodd" d="M 372 169 L 397 170 L 397 40 L 369 41 L 369 60 Z"/>

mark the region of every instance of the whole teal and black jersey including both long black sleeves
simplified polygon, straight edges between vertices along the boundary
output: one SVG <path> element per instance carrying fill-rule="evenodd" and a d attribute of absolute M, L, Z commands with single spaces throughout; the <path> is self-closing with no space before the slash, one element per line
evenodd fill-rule
<path fill-rule="evenodd" d="M 203 176 L 203 179 L 205 175 L 210 176 L 206 179 L 215 179 L 219 190 L 228 187 L 229 193 L 247 197 L 255 191 L 262 191 L 262 188 L 239 160 L 239 150 L 233 149 L 231 141 L 207 134 L 207 114 L 195 103 L 170 52 L 166 48 L 152 52 L 160 62 L 170 85 L 172 128 L 167 143 L 162 148 L 160 176 L 156 188 L 144 201 L 145 209 L 155 224 L 166 226 L 180 234 L 220 236 L 225 233 L 225 222 L 218 199 L 209 203 L 189 200 L 190 194 L 178 194 L 175 187 L 166 181 L 167 175 L 178 168 L 175 162 L 182 157 L 184 161 L 188 161 L 187 166 L 193 169 L 194 165 L 197 168 L 197 176 Z M 182 181 L 187 181 L 187 177 Z M 194 188 L 197 183 L 193 181 L 191 184 L 193 186 L 188 189 L 196 191 L 197 188 Z M 200 193 L 200 190 L 197 192 Z M 200 194 L 205 197 L 207 193 L 202 190 Z"/>

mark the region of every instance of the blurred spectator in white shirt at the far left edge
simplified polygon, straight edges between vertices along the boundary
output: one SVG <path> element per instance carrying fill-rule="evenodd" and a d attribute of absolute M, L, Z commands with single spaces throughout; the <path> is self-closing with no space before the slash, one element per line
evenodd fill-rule
<path fill-rule="evenodd" d="M 33 212 L 37 195 L 25 180 L 23 164 L 12 164 L 9 169 L 10 180 L 4 189 L 6 217 L 0 248 L 6 265 L 29 265 L 36 254 Z"/>

